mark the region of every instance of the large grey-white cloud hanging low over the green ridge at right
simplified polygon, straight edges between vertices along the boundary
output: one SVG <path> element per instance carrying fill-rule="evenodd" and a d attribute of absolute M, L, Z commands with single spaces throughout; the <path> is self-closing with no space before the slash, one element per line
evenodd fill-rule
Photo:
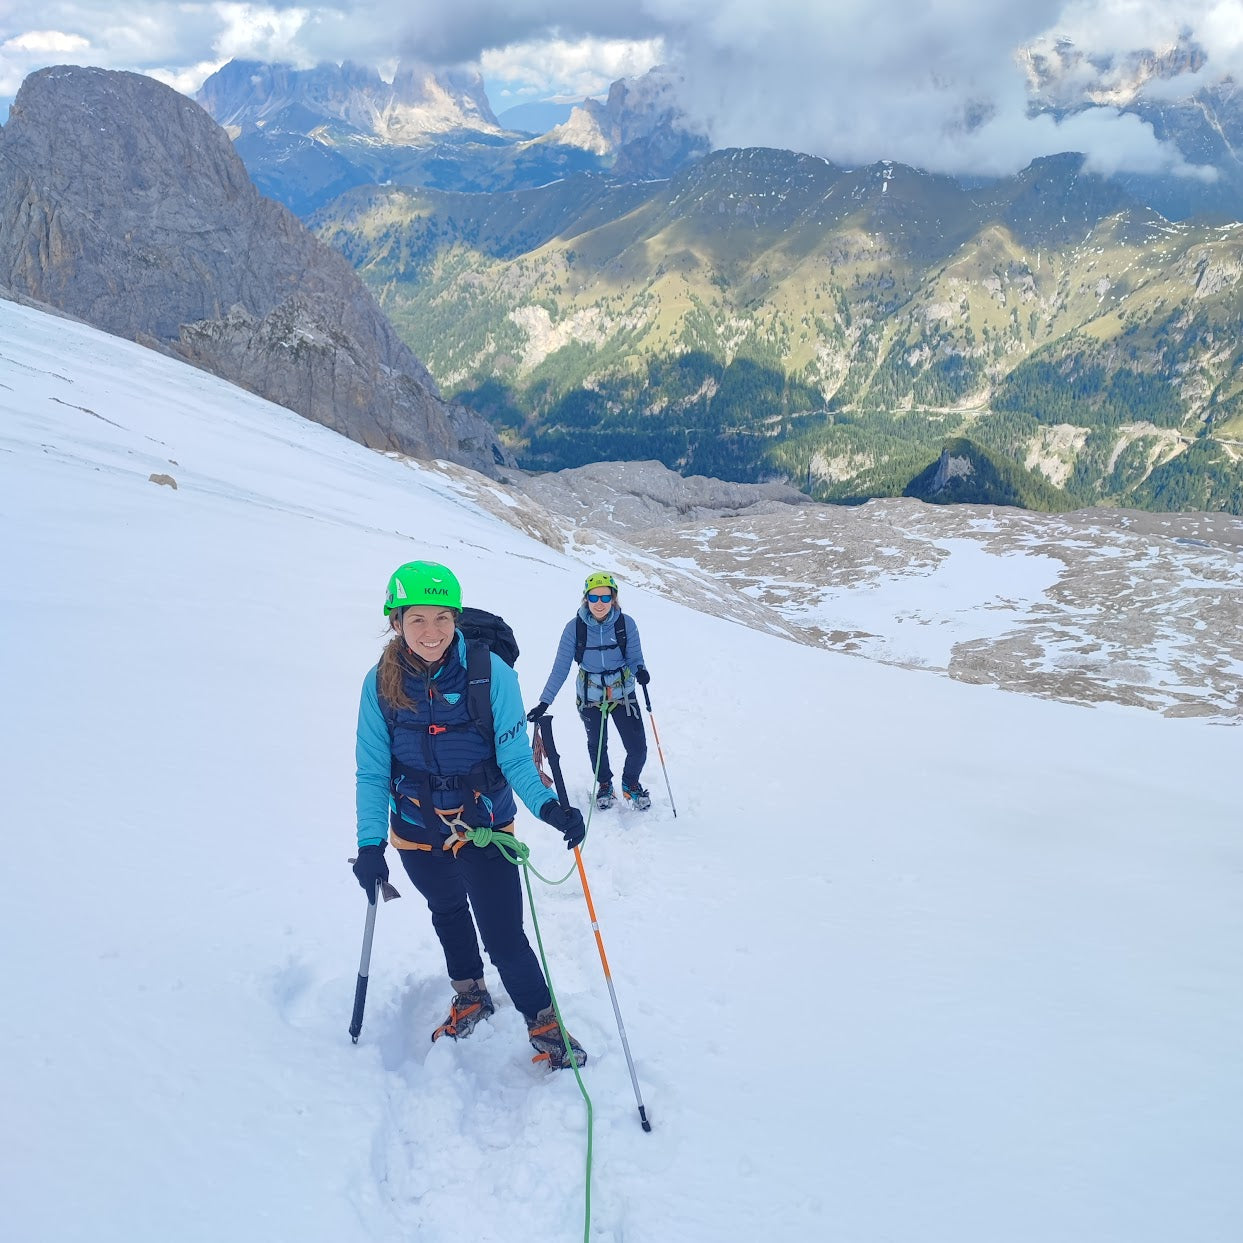
<path fill-rule="evenodd" d="M 834 6 L 832 21 L 815 21 L 819 10 L 800 0 L 682 0 L 676 9 L 685 26 L 666 32 L 666 42 L 692 116 L 715 145 L 793 147 L 844 164 L 884 158 L 993 174 L 1038 155 L 1084 150 L 1101 170 L 1190 172 L 1150 126 L 1117 107 L 1093 107 L 1060 123 L 1033 114 L 1030 65 L 1022 55 L 1053 48 L 1073 31 L 1081 44 L 1060 66 L 1070 87 L 1059 85 L 1083 106 L 1094 102 L 1090 87 L 1117 85 L 1127 56 L 1154 50 L 1124 39 L 1127 32 L 1160 35 L 1166 42 L 1154 45 L 1157 51 L 1188 37 L 1162 9 L 1125 0 L 982 7 L 975 0 L 850 0 Z M 1136 7 L 1145 20 L 1132 29 L 1125 19 Z"/>

